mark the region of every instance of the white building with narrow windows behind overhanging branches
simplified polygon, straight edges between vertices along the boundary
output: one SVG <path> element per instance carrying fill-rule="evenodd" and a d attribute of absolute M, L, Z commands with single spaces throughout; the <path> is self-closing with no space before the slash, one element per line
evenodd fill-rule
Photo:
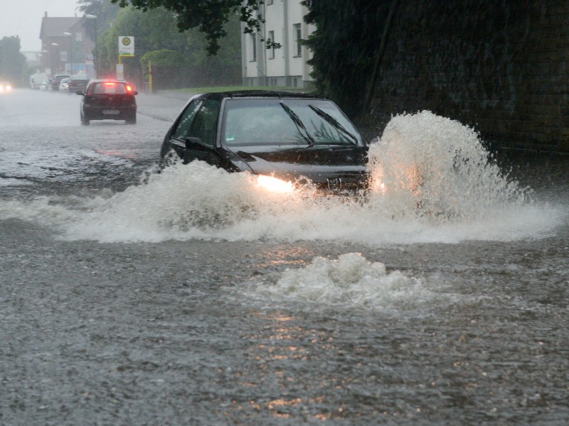
<path fill-rule="evenodd" d="M 310 50 L 300 45 L 315 27 L 304 22 L 308 13 L 301 0 L 265 0 L 260 10 L 265 18 L 260 33 L 241 36 L 243 84 L 245 86 L 309 87 L 312 67 Z M 243 28 L 242 28 L 243 29 Z M 265 48 L 263 39 L 275 40 L 280 49 Z"/>

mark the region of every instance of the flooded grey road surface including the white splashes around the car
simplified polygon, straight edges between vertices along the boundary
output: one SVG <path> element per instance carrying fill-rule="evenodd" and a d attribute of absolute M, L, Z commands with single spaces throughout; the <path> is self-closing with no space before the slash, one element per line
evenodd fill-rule
<path fill-rule="evenodd" d="M 275 195 L 154 173 L 184 100 L 138 102 L 0 99 L 0 425 L 569 421 L 568 158 L 416 114 L 365 204 Z"/>

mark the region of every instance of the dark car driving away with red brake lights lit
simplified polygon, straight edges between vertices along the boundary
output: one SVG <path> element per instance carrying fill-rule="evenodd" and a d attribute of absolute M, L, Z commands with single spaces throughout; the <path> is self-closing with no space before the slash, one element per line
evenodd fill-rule
<path fill-rule="evenodd" d="M 80 103 L 81 124 L 88 126 L 91 120 L 124 120 L 137 123 L 137 100 L 129 82 L 122 80 L 91 80 Z"/>

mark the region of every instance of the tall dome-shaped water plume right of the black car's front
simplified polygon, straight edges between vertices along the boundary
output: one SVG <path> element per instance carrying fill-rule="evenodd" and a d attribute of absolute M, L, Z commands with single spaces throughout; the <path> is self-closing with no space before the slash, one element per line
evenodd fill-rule
<path fill-rule="evenodd" d="M 473 220 L 531 204 L 531 192 L 501 173 L 473 129 L 430 111 L 395 116 L 369 160 L 372 202 L 393 217 Z"/>

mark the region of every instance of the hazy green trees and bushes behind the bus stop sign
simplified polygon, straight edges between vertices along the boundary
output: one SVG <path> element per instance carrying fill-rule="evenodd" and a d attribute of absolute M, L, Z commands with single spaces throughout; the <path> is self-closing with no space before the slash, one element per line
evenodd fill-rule
<path fill-rule="evenodd" d="M 142 12 L 122 9 L 112 26 L 97 43 L 97 72 L 114 75 L 118 59 L 119 35 L 132 35 L 136 58 L 122 58 L 125 77 L 142 84 L 148 75 L 148 60 L 153 63 L 155 87 L 165 89 L 196 84 L 225 84 L 240 81 L 240 23 L 230 18 L 223 27 L 228 36 L 218 55 L 208 56 L 206 39 L 197 29 L 180 33 L 176 17 L 164 8 Z M 175 53 L 175 55 L 174 55 Z M 140 58 L 140 60 L 138 59 Z"/>

